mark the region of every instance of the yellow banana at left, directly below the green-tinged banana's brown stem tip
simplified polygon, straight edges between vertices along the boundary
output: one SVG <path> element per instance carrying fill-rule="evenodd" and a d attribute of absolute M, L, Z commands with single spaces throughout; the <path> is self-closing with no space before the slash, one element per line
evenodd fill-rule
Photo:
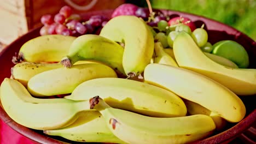
<path fill-rule="evenodd" d="M 117 77 L 107 65 L 86 63 L 72 68 L 57 68 L 33 76 L 27 83 L 28 91 L 34 96 L 51 96 L 71 93 L 80 83 L 100 77 Z"/>

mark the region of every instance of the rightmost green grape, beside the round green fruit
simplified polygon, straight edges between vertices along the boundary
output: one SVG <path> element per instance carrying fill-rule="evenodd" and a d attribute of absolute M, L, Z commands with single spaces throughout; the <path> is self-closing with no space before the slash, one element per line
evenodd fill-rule
<path fill-rule="evenodd" d="M 208 41 L 208 34 L 203 28 L 196 28 L 192 32 L 191 37 L 194 39 L 194 41 L 199 47 L 202 47 Z"/>

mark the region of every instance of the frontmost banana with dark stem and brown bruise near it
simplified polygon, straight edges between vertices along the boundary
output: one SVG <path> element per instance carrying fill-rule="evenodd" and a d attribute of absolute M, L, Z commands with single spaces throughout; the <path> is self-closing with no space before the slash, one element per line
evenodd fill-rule
<path fill-rule="evenodd" d="M 212 134 L 216 128 L 211 117 L 148 117 L 114 109 L 99 97 L 90 99 L 91 109 L 102 114 L 112 133 L 127 143 L 188 143 Z"/>

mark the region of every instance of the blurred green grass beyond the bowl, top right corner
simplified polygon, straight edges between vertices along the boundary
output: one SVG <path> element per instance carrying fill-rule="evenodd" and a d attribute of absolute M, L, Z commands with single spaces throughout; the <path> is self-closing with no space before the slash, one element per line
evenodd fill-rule
<path fill-rule="evenodd" d="M 127 1 L 147 7 L 146 0 Z M 256 40 L 256 0 L 150 0 L 156 9 L 201 15 L 225 23 Z"/>

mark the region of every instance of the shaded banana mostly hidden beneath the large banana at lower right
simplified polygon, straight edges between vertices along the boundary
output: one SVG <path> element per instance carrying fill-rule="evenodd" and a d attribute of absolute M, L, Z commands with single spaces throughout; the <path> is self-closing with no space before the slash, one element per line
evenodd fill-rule
<path fill-rule="evenodd" d="M 227 122 L 224 118 L 218 116 L 215 112 L 212 112 L 205 107 L 201 106 L 200 104 L 194 103 L 193 101 L 183 99 L 185 105 L 187 106 L 188 113 L 190 115 L 197 115 L 197 114 L 202 114 L 202 115 L 207 115 L 210 116 L 215 125 L 216 125 L 216 130 L 220 131 L 223 130 L 224 127 L 226 126 Z"/>

